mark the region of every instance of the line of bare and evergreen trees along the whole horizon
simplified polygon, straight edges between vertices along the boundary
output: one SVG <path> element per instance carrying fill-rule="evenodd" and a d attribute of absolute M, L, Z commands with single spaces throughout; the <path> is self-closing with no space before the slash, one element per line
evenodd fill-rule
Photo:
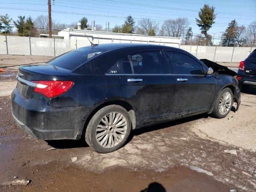
<path fill-rule="evenodd" d="M 143 18 L 135 22 L 132 16 L 127 16 L 124 24 L 116 25 L 112 28 L 112 32 L 142 34 L 148 36 L 168 36 L 182 39 L 182 44 L 206 45 L 212 46 L 214 39 L 208 31 L 215 23 L 216 19 L 215 7 L 205 4 L 198 12 L 198 18 L 195 18 L 197 26 L 201 30 L 201 34 L 194 34 L 192 27 L 189 26 L 187 18 L 166 19 L 162 24 L 157 20 Z M 19 36 L 39 36 L 39 34 L 48 34 L 48 16 L 40 15 L 36 19 L 31 16 L 18 16 L 18 20 L 13 20 L 8 14 L 0 16 L 0 30 L 10 34 L 13 27 L 17 28 Z M 79 22 L 81 28 L 88 28 L 88 19 L 82 17 Z M 104 31 L 102 25 L 96 24 L 97 31 Z M 77 23 L 63 24 L 56 20 L 52 20 L 52 34 L 58 34 L 58 31 L 65 28 L 77 29 Z M 256 21 L 251 22 L 246 28 L 244 25 L 239 26 L 236 20 L 232 20 L 225 32 L 222 34 L 220 45 L 222 46 L 254 46 L 256 42 Z"/>

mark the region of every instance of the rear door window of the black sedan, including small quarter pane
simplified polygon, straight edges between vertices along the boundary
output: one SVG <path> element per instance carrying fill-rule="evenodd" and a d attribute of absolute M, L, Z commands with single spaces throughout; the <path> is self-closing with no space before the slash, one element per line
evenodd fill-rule
<path fill-rule="evenodd" d="M 166 74 L 160 51 L 130 54 L 117 63 L 120 74 Z"/>

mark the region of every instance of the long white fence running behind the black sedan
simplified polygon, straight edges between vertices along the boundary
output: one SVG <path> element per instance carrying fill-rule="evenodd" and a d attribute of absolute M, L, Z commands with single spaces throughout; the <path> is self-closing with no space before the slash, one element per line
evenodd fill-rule
<path fill-rule="evenodd" d="M 19 36 L 1 36 L 0 54 L 58 56 L 70 50 L 90 45 L 88 40 L 29 38 Z M 206 58 L 215 62 L 240 62 L 254 48 L 250 47 L 220 47 L 220 46 L 190 46 L 169 44 L 165 42 L 141 42 L 122 39 L 92 38 L 94 43 L 150 43 L 173 46 L 186 50 L 199 59 Z"/>

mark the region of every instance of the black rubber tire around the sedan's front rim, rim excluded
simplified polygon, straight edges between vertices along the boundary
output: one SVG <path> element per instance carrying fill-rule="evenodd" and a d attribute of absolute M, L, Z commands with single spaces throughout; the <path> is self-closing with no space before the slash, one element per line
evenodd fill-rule
<path fill-rule="evenodd" d="M 229 108 L 229 110 L 226 112 L 226 114 L 221 114 L 220 111 L 219 111 L 219 104 L 220 104 L 220 98 L 221 96 L 225 93 L 225 92 L 229 92 L 231 94 L 231 106 Z M 216 100 L 214 101 L 214 104 L 213 104 L 213 111 L 212 111 L 212 116 L 214 118 L 224 118 L 228 115 L 228 113 L 230 112 L 231 108 L 232 108 L 232 105 L 234 103 L 234 94 L 232 92 L 232 90 L 230 88 L 224 88 L 220 94 L 218 95 L 218 97 L 216 98 Z"/>

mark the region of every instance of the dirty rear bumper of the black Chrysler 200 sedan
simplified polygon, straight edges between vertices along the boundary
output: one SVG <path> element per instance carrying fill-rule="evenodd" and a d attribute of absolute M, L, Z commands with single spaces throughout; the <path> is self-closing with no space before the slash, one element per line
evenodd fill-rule
<path fill-rule="evenodd" d="M 42 140 L 80 139 L 95 106 L 53 107 L 49 100 L 25 99 L 12 92 L 12 115 L 30 136 Z"/>

